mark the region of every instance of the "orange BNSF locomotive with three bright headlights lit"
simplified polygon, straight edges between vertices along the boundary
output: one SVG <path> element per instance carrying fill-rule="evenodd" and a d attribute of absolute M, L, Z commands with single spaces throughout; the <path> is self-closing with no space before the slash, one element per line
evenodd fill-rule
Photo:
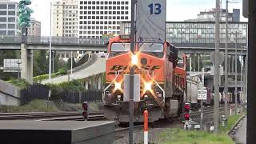
<path fill-rule="evenodd" d="M 130 36 L 110 38 L 106 58 L 106 89 L 103 91 L 107 118 L 129 122 L 129 96 L 126 94 L 130 67 L 134 74 L 138 101 L 134 102 L 134 122 L 143 122 L 143 111 L 149 110 L 149 122 L 182 113 L 186 93 L 186 55 L 169 42 L 137 43 L 130 52 Z M 135 95 L 134 95 L 135 97 Z M 128 99 L 128 101 L 127 101 Z"/>

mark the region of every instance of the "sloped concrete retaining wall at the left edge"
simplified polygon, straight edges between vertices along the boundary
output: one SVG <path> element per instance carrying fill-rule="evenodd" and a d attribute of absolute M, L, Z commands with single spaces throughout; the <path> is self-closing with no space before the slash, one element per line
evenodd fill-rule
<path fill-rule="evenodd" d="M 0 105 L 19 106 L 20 91 L 18 87 L 0 80 Z"/>

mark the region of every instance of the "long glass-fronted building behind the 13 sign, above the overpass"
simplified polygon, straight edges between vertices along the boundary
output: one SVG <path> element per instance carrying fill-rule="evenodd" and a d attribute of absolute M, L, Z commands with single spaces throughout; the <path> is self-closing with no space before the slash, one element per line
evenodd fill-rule
<path fill-rule="evenodd" d="M 239 44 L 246 44 L 247 22 L 229 22 L 228 43 L 235 43 L 236 32 Z M 130 22 L 122 22 L 121 33 L 130 34 Z M 171 43 L 214 43 L 214 22 L 166 22 L 166 40 Z M 226 42 L 225 22 L 220 24 L 220 42 Z"/>

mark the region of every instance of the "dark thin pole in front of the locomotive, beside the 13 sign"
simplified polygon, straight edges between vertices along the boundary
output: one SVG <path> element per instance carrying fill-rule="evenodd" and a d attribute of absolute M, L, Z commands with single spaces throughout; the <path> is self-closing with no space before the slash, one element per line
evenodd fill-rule
<path fill-rule="evenodd" d="M 131 0 L 130 51 L 135 46 L 135 0 Z M 134 66 L 130 68 L 129 144 L 134 143 Z"/>

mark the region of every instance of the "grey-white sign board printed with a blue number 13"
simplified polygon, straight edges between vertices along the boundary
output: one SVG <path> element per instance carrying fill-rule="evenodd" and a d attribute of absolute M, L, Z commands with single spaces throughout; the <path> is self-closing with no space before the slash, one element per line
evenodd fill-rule
<path fill-rule="evenodd" d="M 138 0 L 136 42 L 166 41 L 166 0 Z"/>

